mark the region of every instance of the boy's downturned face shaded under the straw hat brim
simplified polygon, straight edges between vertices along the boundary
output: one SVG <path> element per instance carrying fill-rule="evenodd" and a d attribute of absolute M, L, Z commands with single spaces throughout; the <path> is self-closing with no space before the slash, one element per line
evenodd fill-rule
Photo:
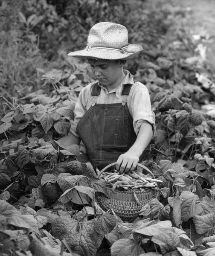
<path fill-rule="evenodd" d="M 113 85 L 117 79 L 120 79 L 119 76 L 122 76 L 123 64 L 120 61 L 88 59 L 88 63 L 93 75 L 103 86 Z"/>

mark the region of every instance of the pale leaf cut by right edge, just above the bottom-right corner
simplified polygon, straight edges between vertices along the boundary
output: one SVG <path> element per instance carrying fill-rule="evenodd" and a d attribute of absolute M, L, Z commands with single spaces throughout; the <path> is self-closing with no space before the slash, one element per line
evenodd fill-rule
<path fill-rule="evenodd" d="M 194 215 L 193 222 L 195 224 L 195 229 L 198 234 L 204 234 L 213 229 L 213 214 L 208 213 L 206 215 Z"/>

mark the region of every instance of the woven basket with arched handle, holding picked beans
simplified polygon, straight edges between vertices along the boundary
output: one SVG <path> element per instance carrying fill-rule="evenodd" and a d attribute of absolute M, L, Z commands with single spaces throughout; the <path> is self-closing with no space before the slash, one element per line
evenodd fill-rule
<path fill-rule="evenodd" d="M 113 165 L 116 165 L 116 163 L 111 163 L 102 169 L 98 177 L 102 174 L 102 172 Z M 154 177 L 148 168 L 139 163 L 138 166 L 148 171 Z M 100 192 L 96 193 L 96 198 L 99 205 L 105 211 L 108 211 L 108 209 L 113 209 L 116 215 L 119 216 L 123 221 L 130 221 L 132 218 L 138 215 L 139 211 L 145 204 L 148 204 L 148 202 L 150 202 L 152 199 L 159 197 L 159 192 L 154 189 L 135 191 L 140 202 L 140 205 L 138 205 L 131 191 L 115 190 L 115 192 L 113 192 L 112 188 L 107 187 L 107 192 L 107 196 Z"/>

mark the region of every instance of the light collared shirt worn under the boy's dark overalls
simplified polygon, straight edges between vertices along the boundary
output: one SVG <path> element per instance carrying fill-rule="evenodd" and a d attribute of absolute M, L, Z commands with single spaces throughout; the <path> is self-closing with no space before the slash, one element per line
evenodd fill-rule
<path fill-rule="evenodd" d="M 76 126 L 80 121 L 81 117 L 84 116 L 84 114 L 88 111 L 93 103 L 122 103 L 123 99 L 126 99 L 128 104 L 128 110 L 133 117 L 135 133 L 139 133 L 139 128 L 143 122 L 149 122 L 153 127 L 153 132 L 155 131 L 155 115 L 154 112 L 151 111 L 151 102 L 148 89 L 145 87 L 144 84 L 140 82 L 134 82 L 133 77 L 128 70 L 123 71 L 125 73 L 125 78 L 116 88 L 114 88 L 110 92 L 108 92 L 105 86 L 99 85 L 102 88 L 99 96 L 91 96 L 92 85 L 95 84 L 95 82 L 88 84 L 81 90 L 74 109 L 74 121 L 70 121 L 70 132 L 73 135 L 78 137 Z M 123 84 L 133 84 L 128 96 L 121 95 Z"/>

